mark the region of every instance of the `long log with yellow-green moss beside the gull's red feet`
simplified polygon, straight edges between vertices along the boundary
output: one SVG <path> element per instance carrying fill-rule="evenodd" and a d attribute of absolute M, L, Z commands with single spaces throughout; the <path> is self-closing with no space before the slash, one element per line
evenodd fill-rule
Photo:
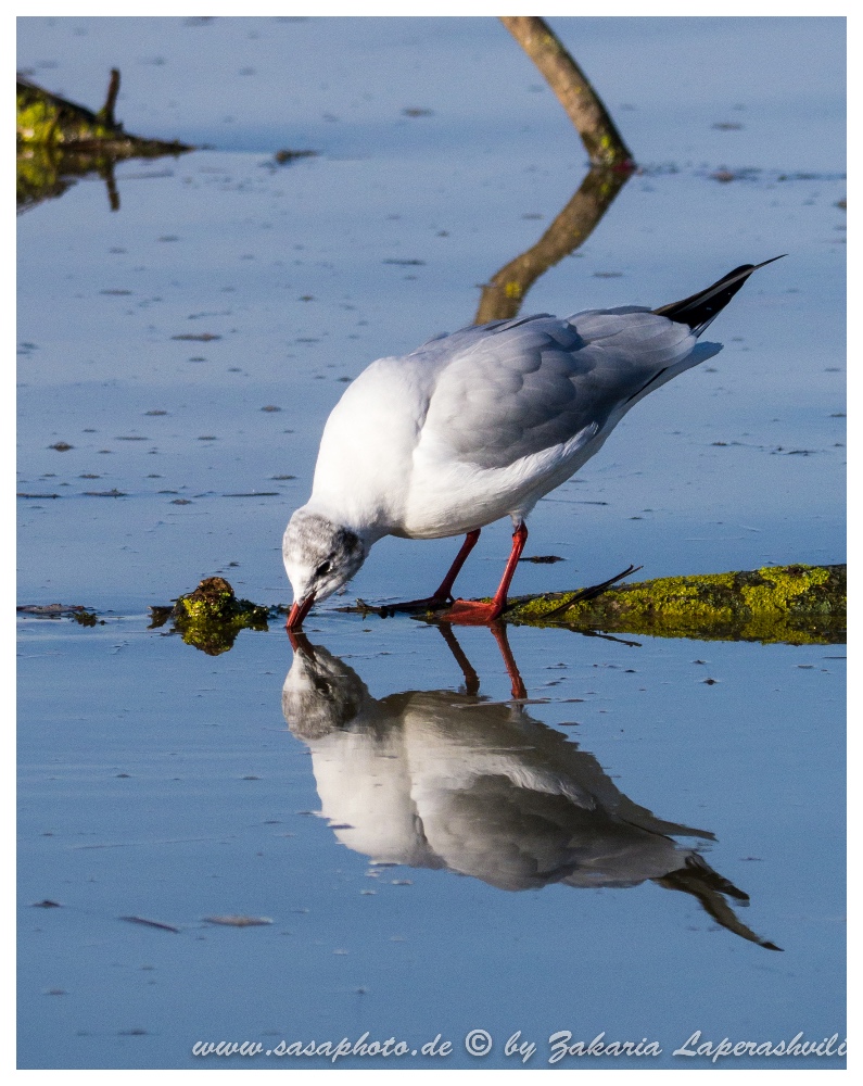
<path fill-rule="evenodd" d="M 698 641 L 792 645 L 846 640 L 846 566 L 765 566 L 746 572 L 662 577 L 606 590 L 513 598 L 505 614 L 523 626 Z"/>

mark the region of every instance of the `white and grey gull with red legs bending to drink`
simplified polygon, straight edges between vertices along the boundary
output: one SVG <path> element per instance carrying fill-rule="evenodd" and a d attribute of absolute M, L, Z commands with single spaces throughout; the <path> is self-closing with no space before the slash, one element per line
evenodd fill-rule
<path fill-rule="evenodd" d="M 771 263 L 745 264 L 658 310 L 493 320 L 373 362 L 327 420 L 312 496 L 284 532 L 288 629 L 350 581 L 384 535 L 467 534 L 436 592 L 404 605 L 446 607 L 480 529 L 509 515 L 512 551 L 492 602 L 457 599 L 441 616 L 497 618 L 534 505 L 599 452 L 648 392 L 722 350 L 698 337 Z"/>

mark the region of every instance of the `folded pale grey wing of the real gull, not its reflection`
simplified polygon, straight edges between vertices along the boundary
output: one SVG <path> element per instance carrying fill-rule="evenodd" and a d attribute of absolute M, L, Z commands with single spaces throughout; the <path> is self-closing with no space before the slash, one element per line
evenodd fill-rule
<path fill-rule="evenodd" d="M 592 424 L 613 425 L 672 367 L 688 368 L 681 364 L 695 345 L 685 325 L 626 307 L 495 321 L 432 340 L 411 357 L 440 367 L 426 429 L 457 459 L 495 468 Z"/>

